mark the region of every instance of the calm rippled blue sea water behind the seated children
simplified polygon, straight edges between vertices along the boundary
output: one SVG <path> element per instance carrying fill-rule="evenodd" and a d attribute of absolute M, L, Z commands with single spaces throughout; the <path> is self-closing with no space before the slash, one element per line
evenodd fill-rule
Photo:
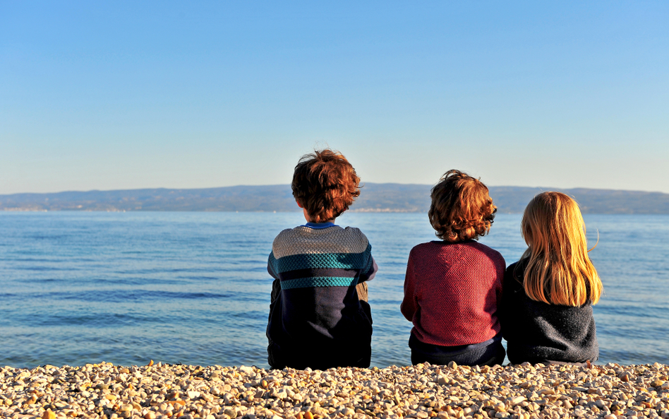
<path fill-rule="evenodd" d="M 507 264 L 525 249 L 519 215 L 482 242 Z M 0 213 L 0 365 L 148 360 L 267 367 L 275 235 L 301 213 Z M 426 214 L 346 213 L 369 237 L 372 365 L 408 365 L 399 313 Z M 595 306 L 599 362 L 669 363 L 669 216 L 586 216 L 605 294 Z"/>

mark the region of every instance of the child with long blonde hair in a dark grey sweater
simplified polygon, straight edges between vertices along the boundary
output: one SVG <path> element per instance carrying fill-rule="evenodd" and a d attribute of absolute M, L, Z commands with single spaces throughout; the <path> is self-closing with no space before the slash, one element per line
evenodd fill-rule
<path fill-rule="evenodd" d="M 525 208 L 521 230 L 527 250 L 504 276 L 501 320 L 509 360 L 596 361 L 592 305 L 602 283 L 588 257 L 578 204 L 560 192 L 538 194 Z"/>

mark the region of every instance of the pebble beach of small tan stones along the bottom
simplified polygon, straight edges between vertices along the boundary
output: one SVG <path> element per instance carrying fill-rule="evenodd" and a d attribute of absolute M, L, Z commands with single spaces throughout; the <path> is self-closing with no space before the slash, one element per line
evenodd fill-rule
<path fill-rule="evenodd" d="M 669 366 L 0 368 L 5 418 L 669 418 Z"/>

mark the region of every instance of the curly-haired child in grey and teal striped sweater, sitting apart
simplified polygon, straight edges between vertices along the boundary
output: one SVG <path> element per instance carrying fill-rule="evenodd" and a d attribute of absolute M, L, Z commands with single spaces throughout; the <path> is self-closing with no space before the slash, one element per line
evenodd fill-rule
<path fill-rule="evenodd" d="M 326 149 L 303 155 L 292 189 L 307 223 L 272 244 L 267 360 L 272 368 L 369 367 L 367 287 L 377 271 L 367 237 L 335 218 L 360 195 L 351 163 Z"/>

